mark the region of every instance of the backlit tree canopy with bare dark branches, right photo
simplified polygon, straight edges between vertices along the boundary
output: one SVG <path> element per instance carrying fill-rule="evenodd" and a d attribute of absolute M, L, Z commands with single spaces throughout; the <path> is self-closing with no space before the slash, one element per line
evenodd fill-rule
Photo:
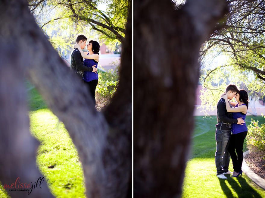
<path fill-rule="evenodd" d="M 202 104 L 216 105 L 228 83 L 251 96 L 265 93 L 265 2 L 227 0 L 229 13 L 217 24 L 201 48 Z M 206 59 L 222 55 L 226 61 L 209 67 Z"/>

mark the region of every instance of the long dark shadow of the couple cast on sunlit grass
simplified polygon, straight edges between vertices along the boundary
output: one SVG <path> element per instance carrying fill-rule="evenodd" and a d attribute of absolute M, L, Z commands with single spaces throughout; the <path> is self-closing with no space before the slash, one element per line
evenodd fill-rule
<path fill-rule="evenodd" d="M 238 182 L 237 182 L 238 181 Z M 232 188 L 237 197 L 240 198 L 262 198 L 256 190 L 254 190 L 245 178 L 238 177 L 238 178 L 231 178 L 228 177 L 226 180 L 219 179 L 220 186 L 226 195 L 227 198 L 234 197 L 230 188 Z M 240 184 L 240 185 L 239 185 Z M 229 188 L 230 186 L 230 188 Z"/>

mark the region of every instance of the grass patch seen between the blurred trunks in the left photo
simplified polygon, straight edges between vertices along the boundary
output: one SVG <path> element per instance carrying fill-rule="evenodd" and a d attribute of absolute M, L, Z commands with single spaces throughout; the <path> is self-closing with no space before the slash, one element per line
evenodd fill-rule
<path fill-rule="evenodd" d="M 58 198 L 85 198 L 82 165 L 64 124 L 47 108 L 36 89 L 28 82 L 26 86 L 30 131 L 40 142 L 36 164 L 51 193 Z M 7 197 L 0 185 L 0 198 Z"/>

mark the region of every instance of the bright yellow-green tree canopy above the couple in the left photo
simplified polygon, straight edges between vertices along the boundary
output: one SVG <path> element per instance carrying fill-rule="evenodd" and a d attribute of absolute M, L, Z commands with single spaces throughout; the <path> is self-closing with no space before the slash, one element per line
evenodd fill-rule
<path fill-rule="evenodd" d="M 122 43 L 131 0 L 29 0 L 28 4 L 50 41 L 67 49 L 78 33 L 89 33 L 111 46 Z"/>

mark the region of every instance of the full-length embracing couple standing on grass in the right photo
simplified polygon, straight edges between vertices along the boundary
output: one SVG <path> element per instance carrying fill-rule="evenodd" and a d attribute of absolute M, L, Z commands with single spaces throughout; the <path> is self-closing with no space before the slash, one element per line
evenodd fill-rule
<path fill-rule="evenodd" d="M 228 101 L 233 97 L 236 102 Z M 245 123 L 247 111 L 248 93 L 238 90 L 235 85 L 227 86 L 225 94 L 217 103 L 215 165 L 217 177 L 220 179 L 226 179 L 224 174 L 232 174 L 232 177 L 242 176 L 243 143 L 248 132 Z M 230 156 L 233 173 L 228 170 Z"/>

